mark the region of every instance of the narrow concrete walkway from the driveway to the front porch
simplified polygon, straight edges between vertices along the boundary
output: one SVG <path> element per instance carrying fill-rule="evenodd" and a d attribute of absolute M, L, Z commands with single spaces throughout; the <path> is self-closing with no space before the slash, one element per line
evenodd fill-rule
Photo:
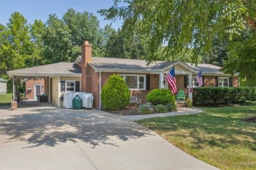
<path fill-rule="evenodd" d="M 198 108 L 178 108 L 178 111 L 173 111 L 169 113 L 156 113 L 156 114 L 149 114 L 149 115 L 132 115 L 132 116 L 121 116 L 128 121 L 136 121 L 142 120 L 145 118 L 154 118 L 154 117 L 171 117 L 176 115 L 192 115 L 196 113 L 201 113 L 203 110 Z"/>

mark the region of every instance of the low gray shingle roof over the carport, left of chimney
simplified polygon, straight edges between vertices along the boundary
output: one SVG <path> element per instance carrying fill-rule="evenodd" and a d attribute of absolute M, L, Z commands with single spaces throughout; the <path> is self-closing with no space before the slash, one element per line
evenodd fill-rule
<path fill-rule="evenodd" d="M 44 66 L 29 67 L 25 69 L 15 69 L 7 73 L 49 73 L 49 74 L 77 74 L 81 73 L 79 66 L 73 62 L 58 62 L 54 64 L 47 64 Z"/>

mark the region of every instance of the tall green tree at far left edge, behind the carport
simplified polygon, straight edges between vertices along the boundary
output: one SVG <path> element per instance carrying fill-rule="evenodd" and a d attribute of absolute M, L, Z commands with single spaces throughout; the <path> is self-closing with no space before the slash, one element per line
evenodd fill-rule
<path fill-rule="evenodd" d="M 12 81 L 6 71 L 31 66 L 33 44 L 26 18 L 18 12 L 12 13 L 6 27 L 0 25 L 0 75 L 8 80 L 8 92 Z"/>

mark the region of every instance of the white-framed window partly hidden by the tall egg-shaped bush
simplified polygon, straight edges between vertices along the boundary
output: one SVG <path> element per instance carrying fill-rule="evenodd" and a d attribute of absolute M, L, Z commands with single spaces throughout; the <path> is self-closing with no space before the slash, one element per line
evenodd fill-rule
<path fill-rule="evenodd" d="M 130 90 L 146 90 L 146 75 L 123 74 L 121 76 Z"/>

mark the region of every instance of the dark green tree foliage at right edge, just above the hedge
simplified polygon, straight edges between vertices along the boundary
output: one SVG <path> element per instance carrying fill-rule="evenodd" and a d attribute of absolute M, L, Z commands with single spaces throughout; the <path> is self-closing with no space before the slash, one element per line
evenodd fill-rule
<path fill-rule="evenodd" d="M 241 85 L 256 87 L 256 34 L 246 31 L 242 36 L 230 41 L 228 58 L 223 70 L 234 74 L 239 72 Z"/>

